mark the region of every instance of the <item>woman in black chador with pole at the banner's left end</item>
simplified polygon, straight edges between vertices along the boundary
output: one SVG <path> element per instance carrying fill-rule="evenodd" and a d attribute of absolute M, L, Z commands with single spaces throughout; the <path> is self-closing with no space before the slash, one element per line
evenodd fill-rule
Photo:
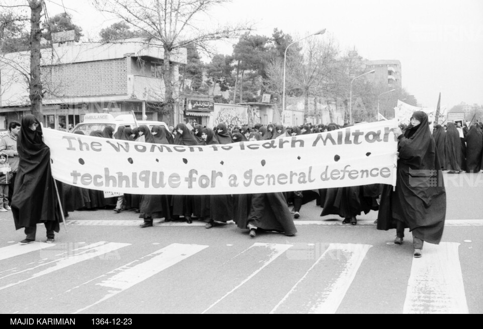
<path fill-rule="evenodd" d="M 12 213 L 15 229 L 25 228 L 27 236 L 20 244 L 35 241 L 38 223 L 45 225 L 46 242 L 52 243 L 54 232 L 60 229 L 61 213 L 50 171 L 50 149 L 42 140 L 40 123 L 31 114 L 22 118 L 17 150 L 20 162 L 12 197 Z M 59 193 L 62 195 L 62 191 Z"/>

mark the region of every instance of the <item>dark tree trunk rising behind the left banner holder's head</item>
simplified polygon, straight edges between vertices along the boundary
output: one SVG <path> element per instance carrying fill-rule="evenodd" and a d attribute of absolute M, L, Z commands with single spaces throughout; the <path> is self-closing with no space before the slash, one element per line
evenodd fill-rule
<path fill-rule="evenodd" d="M 30 111 L 39 122 L 42 116 L 42 81 L 40 80 L 40 16 L 44 0 L 31 0 L 30 14 Z"/>

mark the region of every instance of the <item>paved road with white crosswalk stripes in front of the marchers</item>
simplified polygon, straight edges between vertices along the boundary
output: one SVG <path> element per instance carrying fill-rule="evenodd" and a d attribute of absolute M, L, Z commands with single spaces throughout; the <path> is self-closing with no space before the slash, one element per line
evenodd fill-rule
<path fill-rule="evenodd" d="M 375 229 L 375 212 L 346 226 L 314 202 L 295 237 L 254 239 L 232 224 L 139 229 L 132 212 L 97 210 L 71 213 L 55 244 L 20 246 L 1 213 L 1 312 L 482 313 L 483 183 L 472 182 L 447 184 L 443 241 L 420 259 L 410 234 L 394 246 Z"/>

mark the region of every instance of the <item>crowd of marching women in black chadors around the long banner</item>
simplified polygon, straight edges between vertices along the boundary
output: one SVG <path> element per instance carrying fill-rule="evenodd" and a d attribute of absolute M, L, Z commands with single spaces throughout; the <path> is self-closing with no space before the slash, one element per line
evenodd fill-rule
<path fill-rule="evenodd" d="M 219 124 L 211 129 L 196 123 L 181 123 L 169 129 L 164 126 L 154 126 L 152 129 L 147 126 L 134 129 L 121 126 L 118 131 L 114 131 L 112 127 L 106 127 L 103 131 L 93 131 L 90 135 L 143 143 L 195 146 L 270 140 L 334 131 L 344 127 L 334 123 L 305 124 L 299 127 L 272 124 L 238 127 Z M 449 170 L 449 173 L 459 173 L 462 170 L 479 172 L 483 148 L 482 125 L 471 125 L 467 129 L 449 123 L 445 127 L 436 125 L 431 132 L 427 115 L 415 112 L 407 127 L 401 125 L 394 130 L 398 139 L 397 183 L 394 190 L 389 185 L 372 184 L 283 193 L 123 194 L 106 198 L 103 191 L 67 185 L 51 178 L 50 168 L 45 165 L 50 153 L 43 144 L 42 127 L 33 116 L 23 118 L 21 124 L 11 124 L 9 130 L 9 135 L 0 142 L 0 163 L 2 152 L 9 154 L 11 173 L 16 177 L 11 177 L 10 180 L 13 195 L 8 196 L 8 192 L 4 192 L 8 201 L 4 201 L 4 209 L 9 209 L 9 204 L 12 204 L 16 229 L 25 228 L 27 238 L 21 244 L 35 241 L 34 228 L 37 223 L 46 225 L 47 242 L 54 241 L 54 231 L 59 231 L 58 223 L 62 221 L 58 211 L 58 199 L 64 217 L 69 216 L 72 211 L 112 208 L 113 215 L 121 211 L 138 213 L 142 219 L 140 228 L 143 229 L 152 227 L 154 220 L 185 221 L 189 224 L 197 220 L 204 222 L 206 229 L 233 221 L 252 238 L 264 231 L 280 232 L 286 236 L 295 235 L 297 230 L 294 220 L 303 217 L 302 206 L 316 200 L 315 204 L 323 208 L 321 216 L 339 215 L 343 218 L 342 224 L 357 225 L 358 215 L 379 210 L 377 229 L 396 229 L 394 244 L 400 245 L 403 243 L 404 229 L 409 228 L 413 233 L 414 256 L 421 257 L 423 241 L 437 244 L 443 232 L 446 194 L 440 173 L 442 170 Z M 17 152 L 17 145 L 21 152 Z M 24 159 L 25 157 L 28 159 Z M 27 176 L 33 169 L 42 171 L 36 174 L 36 177 L 41 177 L 42 182 L 39 181 L 40 178 L 36 178 L 36 186 L 29 186 L 30 181 L 26 179 L 29 179 Z M 422 178 L 423 183 L 415 186 L 411 180 L 414 178 L 411 170 L 414 169 L 428 170 L 434 175 L 426 177 L 427 179 Z M 0 171 L 0 176 L 2 173 Z M 431 184 L 428 184 L 430 179 Z M 42 185 L 40 189 L 39 185 Z M 52 186 L 59 190 L 60 197 L 57 199 L 52 194 Z M 42 197 L 37 194 L 42 194 Z M 34 205 L 27 207 L 27 213 L 25 209 L 28 202 L 33 202 Z"/>

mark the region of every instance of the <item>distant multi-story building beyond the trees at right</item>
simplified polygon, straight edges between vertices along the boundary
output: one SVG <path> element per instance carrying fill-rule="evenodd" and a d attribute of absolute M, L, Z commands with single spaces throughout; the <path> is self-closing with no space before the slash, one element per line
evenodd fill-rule
<path fill-rule="evenodd" d="M 387 84 L 389 88 L 401 89 L 401 62 L 398 60 L 365 60 L 366 71 L 375 70 L 366 75 L 370 82 Z"/>

